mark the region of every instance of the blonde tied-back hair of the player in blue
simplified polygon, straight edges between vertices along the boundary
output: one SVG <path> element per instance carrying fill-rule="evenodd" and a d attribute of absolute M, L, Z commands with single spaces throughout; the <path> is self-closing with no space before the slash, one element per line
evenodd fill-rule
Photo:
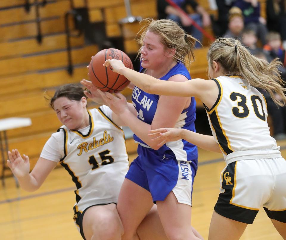
<path fill-rule="evenodd" d="M 170 19 L 154 20 L 153 18 L 146 18 L 140 24 L 144 24 L 140 30 L 140 32 L 143 32 L 137 40 L 141 48 L 146 32 L 149 31 L 157 34 L 165 47 L 176 49 L 173 58 L 177 62 L 181 61 L 187 66 L 195 60 L 194 47 L 198 40 L 192 37 L 192 35 L 186 34 L 175 21 Z M 141 48 L 138 51 L 137 57 L 140 55 Z M 186 62 L 186 57 L 188 58 L 188 62 Z"/>

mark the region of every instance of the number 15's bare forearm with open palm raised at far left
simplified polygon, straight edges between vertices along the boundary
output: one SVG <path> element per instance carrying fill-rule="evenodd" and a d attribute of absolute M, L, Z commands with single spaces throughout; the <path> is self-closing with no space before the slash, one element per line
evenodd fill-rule
<path fill-rule="evenodd" d="M 19 151 L 13 149 L 8 152 L 8 157 L 8 167 L 17 177 L 21 188 L 29 192 L 37 190 L 49 173 L 57 166 L 56 162 L 40 157 L 32 172 L 29 173 L 30 163 L 27 155 L 23 155 L 22 158 Z"/>

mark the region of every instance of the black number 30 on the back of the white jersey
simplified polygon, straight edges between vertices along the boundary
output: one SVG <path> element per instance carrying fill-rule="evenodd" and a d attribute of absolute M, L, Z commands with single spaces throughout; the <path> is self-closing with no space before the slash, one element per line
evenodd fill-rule
<path fill-rule="evenodd" d="M 234 93 L 233 92 L 233 93 L 230 94 L 230 99 L 232 101 L 239 101 L 239 100 L 241 100 L 241 101 L 237 102 L 237 106 L 238 107 L 233 107 L 232 108 L 232 113 L 234 114 L 234 116 L 236 116 L 238 118 L 245 118 L 245 117 L 247 117 L 248 114 L 249 114 L 249 108 L 246 105 L 246 97 L 244 95 L 240 94 L 240 93 Z M 262 114 L 259 113 L 257 100 L 259 102 L 259 105 L 261 106 Z M 265 121 L 266 117 L 265 117 L 265 112 L 263 110 L 262 100 L 259 98 L 259 96 L 252 95 L 251 96 L 251 102 L 252 102 L 252 106 L 253 106 L 253 110 L 254 110 L 255 115 L 259 119 Z"/>

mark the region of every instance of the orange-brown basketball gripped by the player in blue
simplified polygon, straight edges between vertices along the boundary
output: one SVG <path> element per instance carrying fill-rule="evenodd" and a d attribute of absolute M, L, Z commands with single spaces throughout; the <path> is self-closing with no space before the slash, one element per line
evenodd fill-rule
<path fill-rule="evenodd" d="M 133 69 L 133 64 L 127 54 L 115 48 L 103 49 L 95 54 L 89 63 L 89 79 L 101 91 L 110 93 L 122 91 L 130 81 L 123 75 L 113 72 L 111 66 L 102 66 L 107 59 L 121 60 L 125 67 Z"/>

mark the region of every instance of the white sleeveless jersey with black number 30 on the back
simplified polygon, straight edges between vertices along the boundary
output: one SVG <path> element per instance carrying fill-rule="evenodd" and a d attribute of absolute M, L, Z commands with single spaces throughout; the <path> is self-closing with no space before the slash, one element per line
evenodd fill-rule
<path fill-rule="evenodd" d="M 240 76 L 221 76 L 213 80 L 219 95 L 211 109 L 205 108 L 212 134 L 227 163 L 251 155 L 280 155 L 280 147 L 270 136 L 263 95 Z"/>

